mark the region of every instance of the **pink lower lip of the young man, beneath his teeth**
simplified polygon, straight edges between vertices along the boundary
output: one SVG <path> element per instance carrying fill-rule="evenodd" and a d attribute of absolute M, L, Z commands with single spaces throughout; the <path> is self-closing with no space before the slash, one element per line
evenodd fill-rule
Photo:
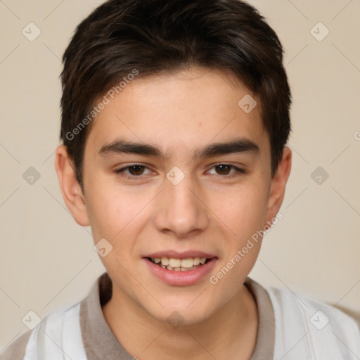
<path fill-rule="evenodd" d="M 174 286 L 187 286 L 194 285 L 195 283 L 203 280 L 203 278 L 205 278 L 205 276 L 207 276 L 214 267 L 214 264 L 217 262 L 217 257 L 213 257 L 206 264 L 203 264 L 194 270 L 188 271 L 162 269 L 161 266 L 154 264 L 149 259 L 144 258 L 144 260 L 146 264 L 148 264 L 150 271 L 152 271 L 152 273 L 161 281 Z"/>

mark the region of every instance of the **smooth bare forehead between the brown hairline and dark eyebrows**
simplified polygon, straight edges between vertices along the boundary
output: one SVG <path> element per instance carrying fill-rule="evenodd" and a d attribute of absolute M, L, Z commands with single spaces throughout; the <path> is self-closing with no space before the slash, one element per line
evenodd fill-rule
<path fill-rule="evenodd" d="M 96 115 L 85 153 L 96 155 L 119 138 L 157 144 L 168 157 L 179 151 L 193 155 L 207 143 L 235 136 L 266 148 L 257 103 L 244 84 L 220 70 L 190 68 L 135 78 Z"/>

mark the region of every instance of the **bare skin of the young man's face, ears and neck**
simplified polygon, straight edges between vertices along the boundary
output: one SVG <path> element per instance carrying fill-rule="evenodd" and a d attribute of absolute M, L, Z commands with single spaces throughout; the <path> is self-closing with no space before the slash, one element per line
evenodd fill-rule
<path fill-rule="evenodd" d="M 256 99 L 220 70 L 188 68 L 134 79 L 94 120 L 84 153 L 84 191 L 66 148 L 56 151 L 60 188 L 75 221 L 91 226 L 95 243 L 105 238 L 113 246 L 101 257 L 113 281 L 103 314 L 117 340 L 138 359 L 250 359 L 255 349 L 257 306 L 243 283 L 261 241 L 216 285 L 209 277 L 276 217 L 291 151 L 285 147 L 271 179 L 269 134 L 259 101 L 245 113 L 238 106 L 245 94 Z M 234 136 L 255 142 L 259 153 L 193 158 L 195 149 Z M 158 146 L 167 157 L 98 154 L 120 138 Z M 128 170 L 132 179 L 115 173 L 134 163 L 148 168 Z M 245 173 L 221 172 L 215 166 L 220 164 Z M 174 166 L 185 175 L 177 185 L 166 177 Z M 210 252 L 217 262 L 195 285 L 167 285 L 150 273 L 143 256 L 169 249 Z M 184 319 L 179 328 L 167 323 L 173 311 Z"/>

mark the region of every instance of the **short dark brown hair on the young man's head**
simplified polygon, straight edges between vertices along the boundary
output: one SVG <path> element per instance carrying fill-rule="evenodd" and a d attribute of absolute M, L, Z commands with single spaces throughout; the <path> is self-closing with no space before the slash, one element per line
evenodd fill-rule
<path fill-rule="evenodd" d="M 229 71 L 258 96 L 274 176 L 291 130 L 291 94 L 281 42 L 262 15 L 239 0 L 109 0 L 77 26 L 63 56 L 60 140 L 82 188 L 98 99 L 134 70 L 145 77 L 189 65 Z"/>

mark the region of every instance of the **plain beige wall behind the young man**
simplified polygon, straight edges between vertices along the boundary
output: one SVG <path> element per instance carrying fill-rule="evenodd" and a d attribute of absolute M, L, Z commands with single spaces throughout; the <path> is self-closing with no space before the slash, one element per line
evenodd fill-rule
<path fill-rule="evenodd" d="M 101 1 L 0 2 L 0 349 L 40 317 L 81 300 L 104 271 L 90 229 L 66 209 L 54 170 L 60 58 Z M 283 219 L 250 276 L 360 310 L 359 0 L 252 0 L 285 47 L 293 89 L 293 170 Z M 29 41 L 22 30 L 41 30 Z M 311 28 L 330 31 L 322 41 Z M 318 30 L 319 29 L 319 30 Z M 316 37 L 324 27 L 314 28 Z M 32 32 L 34 34 L 34 32 Z M 356 138 L 358 140 L 356 140 Z M 23 173 L 34 167 L 34 184 Z M 329 177 L 316 184 L 322 167 Z"/>

